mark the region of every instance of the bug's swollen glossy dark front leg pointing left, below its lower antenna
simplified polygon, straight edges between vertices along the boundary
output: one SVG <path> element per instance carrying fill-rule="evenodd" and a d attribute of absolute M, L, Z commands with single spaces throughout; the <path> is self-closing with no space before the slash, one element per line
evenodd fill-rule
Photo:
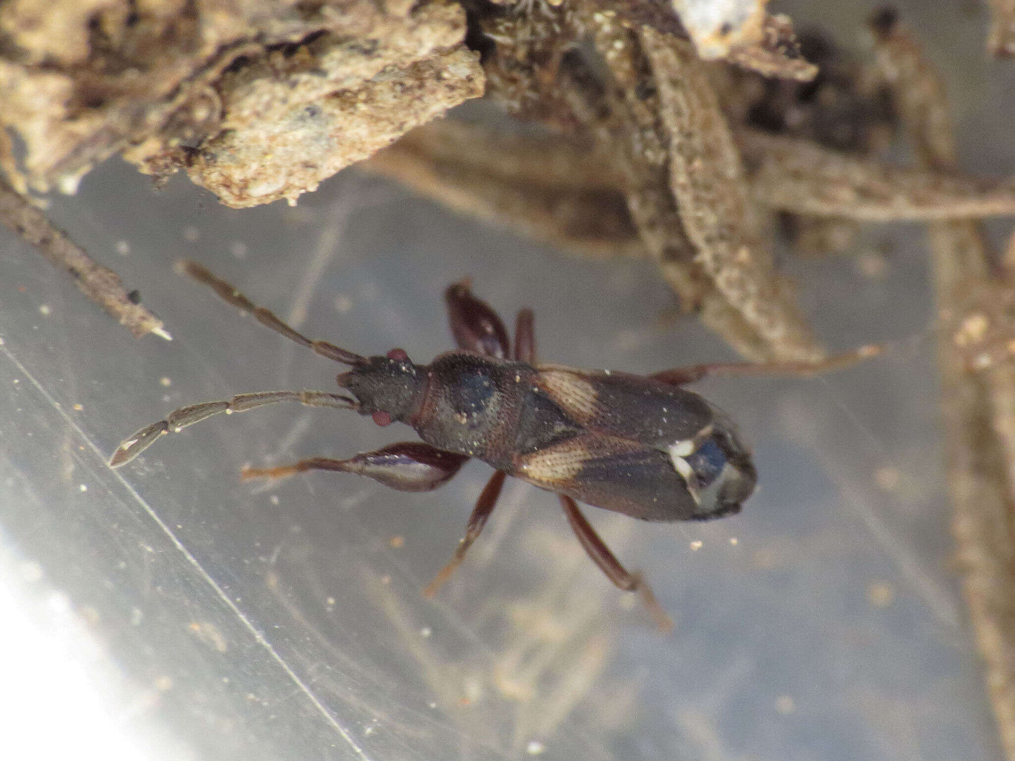
<path fill-rule="evenodd" d="M 373 478 L 398 491 L 430 491 L 454 478 L 468 459 L 422 441 L 399 441 L 348 460 L 310 458 L 276 468 L 244 468 L 241 476 L 245 480 L 288 478 L 312 470 L 340 471 Z"/>

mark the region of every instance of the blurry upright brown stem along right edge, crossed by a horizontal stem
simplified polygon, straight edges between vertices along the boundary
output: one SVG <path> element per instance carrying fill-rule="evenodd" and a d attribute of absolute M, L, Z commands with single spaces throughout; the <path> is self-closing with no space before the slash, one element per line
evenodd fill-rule
<path fill-rule="evenodd" d="M 872 30 L 919 160 L 953 168 L 955 135 L 941 78 L 894 14 L 879 14 Z M 1004 350 L 1015 335 L 998 335 L 1011 325 L 1012 289 L 992 277 L 994 256 L 977 223 L 935 222 L 929 232 L 947 328 L 939 362 L 953 529 L 1001 744 L 1015 759 L 1015 361 Z"/>

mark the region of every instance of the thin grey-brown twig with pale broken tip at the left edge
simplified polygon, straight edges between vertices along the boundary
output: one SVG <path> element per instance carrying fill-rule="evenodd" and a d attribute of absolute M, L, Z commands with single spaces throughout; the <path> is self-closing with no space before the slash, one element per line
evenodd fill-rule
<path fill-rule="evenodd" d="M 96 264 L 65 232 L 57 229 L 31 201 L 0 178 L 0 222 L 17 232 L 55 267 L 69 273 L 88 298 L 137 337 L 153 333 L 171 340 L 162 321 L 124 290 L 120 276 Z"/>

